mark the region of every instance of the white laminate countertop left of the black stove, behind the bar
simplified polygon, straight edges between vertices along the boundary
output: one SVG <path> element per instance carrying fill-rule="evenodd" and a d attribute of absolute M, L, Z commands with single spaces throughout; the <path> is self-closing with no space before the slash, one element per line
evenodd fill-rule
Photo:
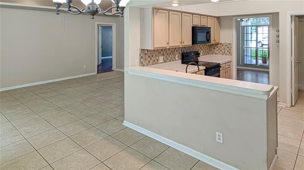
<path fill-rule="evenodd" d="M 161 64 L 155 64 L 151 66 L 146 66 L 150 68 L 157 68 L 162 70 L 170 70 L 170 71 L 178 71 L 178 72 L 186 72 L 186 66 L 187 64 L 181 64 L 181 60 L 171 61 L 168 63 L 161 63 Z M 206 67 L 199 66 L 199 70 L 204 70 Z M 188 73 L 193 73 L 197 71 L 197 66 L 195 65 L 189 65 L 188 66 Z"/>

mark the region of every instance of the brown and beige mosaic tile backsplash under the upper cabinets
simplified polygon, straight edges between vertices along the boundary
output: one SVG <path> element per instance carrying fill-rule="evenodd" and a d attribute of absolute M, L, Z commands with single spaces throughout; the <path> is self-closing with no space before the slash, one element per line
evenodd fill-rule
<path fill-rule="evenodd" d="M 147 53 L 146 53 L 147 51 Z M 164 57 L 164 63 L 175 61 L 175 56 L 178 54 L 178 60 L 181 60 L 181 53 L 190 51 L 203 51 L 201 55 L 217 54 L 217 55 L 231 55 L 232 48 L 231 43 L 220 44 L 197 44 L 189 47 L 177 47 L 177 48 L 164 48 L 159 50 L 146 50 L 140 49 L 139 65 L 150 66 L 159 64 L 158 57 Z"/>

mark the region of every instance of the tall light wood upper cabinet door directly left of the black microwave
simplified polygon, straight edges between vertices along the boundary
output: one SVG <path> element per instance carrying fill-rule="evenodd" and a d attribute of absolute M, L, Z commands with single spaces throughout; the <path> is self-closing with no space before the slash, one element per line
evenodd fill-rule
<path fill-rule="evenodd" d="M 181 15 L 181 45 L 192 45 L 192 14 Z"/>

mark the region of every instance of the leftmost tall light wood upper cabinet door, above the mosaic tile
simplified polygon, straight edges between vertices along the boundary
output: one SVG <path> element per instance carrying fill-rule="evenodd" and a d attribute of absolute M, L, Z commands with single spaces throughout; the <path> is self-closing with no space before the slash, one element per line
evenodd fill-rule
<path fill-rule="evenodd" d="M 169 17 L 168 11 L 154 9 L 154 48 L 168 47 L 169 45 Z"/>

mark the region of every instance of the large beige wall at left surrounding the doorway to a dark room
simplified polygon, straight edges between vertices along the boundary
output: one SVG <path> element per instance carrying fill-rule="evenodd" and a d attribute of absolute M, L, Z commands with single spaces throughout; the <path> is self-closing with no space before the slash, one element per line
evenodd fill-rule
<path fill-rule="evenodd" d="M 123 69 L 120 17 L 1 8 L 1 88 L 95 72 L 95 22 L 116 23 L 116 69 Z M 86 65 L 86 69 L 83 66 Z"/>

